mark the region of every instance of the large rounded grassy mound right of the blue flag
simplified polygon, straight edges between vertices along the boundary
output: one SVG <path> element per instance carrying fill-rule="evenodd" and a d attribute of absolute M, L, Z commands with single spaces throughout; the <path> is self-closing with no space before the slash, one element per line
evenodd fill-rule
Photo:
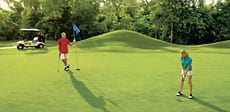
<path fill-rule="evenodd" d="M 154 49 L 172 45 L 137 32 L 118 30 L 83 40 L 79 42 L 78 47 L 90 49 Z"/>

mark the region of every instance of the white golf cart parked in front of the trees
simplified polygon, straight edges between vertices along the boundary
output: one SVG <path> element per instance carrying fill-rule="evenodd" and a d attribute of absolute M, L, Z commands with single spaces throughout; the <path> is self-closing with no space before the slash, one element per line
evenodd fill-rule
<path fill-rule="evenodd" d="M 23 50 L 28 47 L 42 49 L 45 46 L 45 38 L 39 29 L 20 29 L 20 41 L 17 42 L 17 49 Z"/>

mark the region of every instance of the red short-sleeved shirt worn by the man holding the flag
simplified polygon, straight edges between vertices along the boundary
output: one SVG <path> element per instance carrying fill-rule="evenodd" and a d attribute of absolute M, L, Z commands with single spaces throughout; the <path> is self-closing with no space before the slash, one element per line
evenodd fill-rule
<path fill-rule="evenodd" d="M 59 52 L 61 54 L 67 54 L 68 53 L 68 45 L 70 44 L 70 41 L 67 38 L 60 38 L 58 39 L 58 46 L 59 46 Z"/>

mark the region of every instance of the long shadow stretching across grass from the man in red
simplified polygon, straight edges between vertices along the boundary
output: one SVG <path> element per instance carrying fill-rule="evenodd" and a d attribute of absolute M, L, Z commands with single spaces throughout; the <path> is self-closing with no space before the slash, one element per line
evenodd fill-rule
<path fill-rule="evenodd" d="M 96 96 L 92 91 L 82 82 L 75 78 L 72 71 L 67 72 L 70 76 L 74 89 L 84 98 L 84 100 L 92 107 L 102 110 L 102 112 L 110 112 L 105 107 L 105 99 L 103 96 Z"/>

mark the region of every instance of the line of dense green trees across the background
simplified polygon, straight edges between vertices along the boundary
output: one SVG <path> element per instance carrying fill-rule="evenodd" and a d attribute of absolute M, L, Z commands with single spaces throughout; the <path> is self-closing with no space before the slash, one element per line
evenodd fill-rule
<path fill-rule="evenodd" d="M 4 0 L 0 9 L 0 40 L 17 39 L 20 28 L 39 28 L 46 39 L 72 23 L 78 40 L 126 29 L 177 44 L 203 44 L 230 39 L 230 0 Z"/>

